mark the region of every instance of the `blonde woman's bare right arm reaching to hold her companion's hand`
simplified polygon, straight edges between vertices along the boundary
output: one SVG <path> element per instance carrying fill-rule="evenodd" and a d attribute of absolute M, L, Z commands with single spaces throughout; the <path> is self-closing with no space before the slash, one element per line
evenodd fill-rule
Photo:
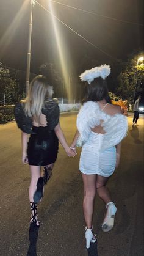
<path fill-rule="evenodd" d="M 54 128 L 54 131 L 56 133 L 56 136 L 59 139 L 60 144 L 62 144 L 62 147 L 65 149 L 65 152 L 67 153 L 67 155 L 74 157 L 76 153 L 74 153 L 73 150 L 71 150 L 70 147 L 68 146 L 65 136 L 63 134 L 63 131 L 60 127 L 60 123 L 58 123 L 58 125 Z"/>

